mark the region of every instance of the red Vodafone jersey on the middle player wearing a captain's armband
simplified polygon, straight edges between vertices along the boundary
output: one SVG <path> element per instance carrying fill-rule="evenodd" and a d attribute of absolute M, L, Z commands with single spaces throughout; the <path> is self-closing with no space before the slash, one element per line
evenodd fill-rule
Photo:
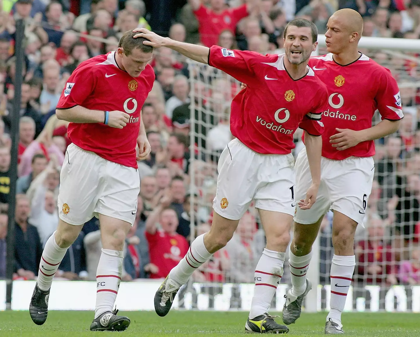
<path fill-rule="evenodd" d="M 298 127 L 311 135 L 323 132 L 320 119 L 328 104 L 325 85 L 309 67 L 307 75 L 293 80 L 283 57 L 210 48 L 211 66 L 247 84 L 232 101 L 232 135 L 262 154 L 291 153 Z"/>

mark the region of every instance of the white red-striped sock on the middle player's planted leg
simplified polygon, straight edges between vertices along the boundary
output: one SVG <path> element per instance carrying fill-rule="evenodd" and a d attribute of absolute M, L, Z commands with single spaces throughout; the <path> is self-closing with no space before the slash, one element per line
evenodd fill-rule
<path fill-rule="evenodd" d="M 254 297 L 249 319 L 268 313 L 271 300 L 283 276 L 285 253 L 264 249 L 255 268 Z"/>

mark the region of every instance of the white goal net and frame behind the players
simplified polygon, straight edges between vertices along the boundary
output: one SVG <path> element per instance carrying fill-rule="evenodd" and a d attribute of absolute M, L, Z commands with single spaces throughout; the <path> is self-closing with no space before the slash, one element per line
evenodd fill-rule
<path fill-rule="evenodd" d="M 360 51 L 387 67 L 399 83 L 404 119 L 398 133 L 377 140 L 375 181 L 367 200 L 364 228 L 355 238 L 356 267 L 346 311 L 420 312 L 420 42 L 417 40 L 362 38 Z M 319 36 L 318 54 L 326 53 L 325 37 Z M 189 62 L 191 86 L 190 192 L 192 233 L 197 236 L 211 226 L 216 191 L 217 162 L 231 140 L 230 103 L 240 83 L 222 71 Z M 374 80 L 374 79 L 373 79 Z M 380 121 L 378 111 L 373 124 Z M 302 130 L 295 133 L 297 156 L 304 146 Z M 194 225 L 195 223 L 195 225 Z M 308 275 L 314 285 L 307 311 L 329 310 L 332 213 L 321 225 Z M 293 235 L 293 232 L 291 233 Z M 258 213 L 251 205 L 241 219 L 234 243 L 214 254 L 179 292 L 174 305 L 201 310 L 250 308 L 254 270 L 265 246 Z M 289 288 L 285 264 L 282 282 L 271 310 L 281 310 Z"/>

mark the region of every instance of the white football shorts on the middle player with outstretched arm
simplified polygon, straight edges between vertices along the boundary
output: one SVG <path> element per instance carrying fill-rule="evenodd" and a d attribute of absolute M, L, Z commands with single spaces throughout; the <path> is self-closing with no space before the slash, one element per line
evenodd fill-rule
<path fill-rule="evenodd" d="M 237 138 L 220 155 L 213 209 L 224 218 L 239 220 L 252 200 L 255 207 L 293 215 L 293 155 L 257 153 Z"/>

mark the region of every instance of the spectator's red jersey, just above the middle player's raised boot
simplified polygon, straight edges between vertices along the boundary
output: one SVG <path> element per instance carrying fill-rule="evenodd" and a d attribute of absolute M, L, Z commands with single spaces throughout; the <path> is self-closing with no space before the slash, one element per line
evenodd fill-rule
<path fill-rule="evenodd" d="M 156 231 L 155 234 L 146 232 L 146 238 L 149 242 L 150 263 L 159 268 L 159 272 L 150 275 L 150 278 L 165 278 L 185 256 L 188 242 L 178 233 L 171 236 L 163 231 Z"/>

